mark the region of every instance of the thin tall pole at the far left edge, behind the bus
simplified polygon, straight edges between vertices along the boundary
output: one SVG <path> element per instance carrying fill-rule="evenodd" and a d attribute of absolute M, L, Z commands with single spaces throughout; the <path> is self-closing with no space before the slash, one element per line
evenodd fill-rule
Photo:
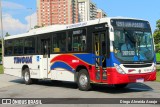
<path fill-rule="evenodd" d="M 3 20 L 2 20 L 2 0 L 0 0 L 0 18 L 1 18 L 1 41 L 2 41 L 2 64 L 4 56 L 4 39 L 3 39 Z"/>

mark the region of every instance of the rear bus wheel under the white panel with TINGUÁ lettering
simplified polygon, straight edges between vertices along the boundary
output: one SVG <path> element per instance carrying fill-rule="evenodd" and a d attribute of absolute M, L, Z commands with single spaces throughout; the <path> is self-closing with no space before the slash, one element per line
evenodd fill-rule
<path fill-rule="evenodd" d="M 29 68 L 26 68 L 23 71 L 23 79 L 26 85 L 29 85 L 32 83 L 32 79 L 30 78 L 30 72 L 29 72 Z"/>

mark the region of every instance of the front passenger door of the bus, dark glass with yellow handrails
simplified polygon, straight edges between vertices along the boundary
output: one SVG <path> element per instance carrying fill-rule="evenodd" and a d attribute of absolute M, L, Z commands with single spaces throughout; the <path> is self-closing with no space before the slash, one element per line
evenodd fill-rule
<path fill-rule="evenodd" d="M 93 34 L 94 38 L 94 54 L 95 54 L 95 69 L 96 80 L 99 82 L 107 80 L 106 75 L 106 33 L 97 32 Z"/>

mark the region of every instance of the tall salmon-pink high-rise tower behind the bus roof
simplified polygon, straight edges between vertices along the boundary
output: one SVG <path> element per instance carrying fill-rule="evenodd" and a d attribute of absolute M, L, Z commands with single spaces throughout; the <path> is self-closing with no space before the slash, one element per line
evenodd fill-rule
<path fill-rule="evenodd" d="M 37 0 L 38 26 L 78 22 L 77 0 Z"/>

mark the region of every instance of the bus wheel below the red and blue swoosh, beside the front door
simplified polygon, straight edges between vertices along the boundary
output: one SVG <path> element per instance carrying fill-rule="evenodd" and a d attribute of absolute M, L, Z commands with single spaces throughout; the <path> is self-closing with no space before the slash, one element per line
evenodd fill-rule
<path fill-rule="evenodd" d="M 88 91 L 91 88 L 89 75 L 86 69 L 81 69 L 79 71 L 77 84 L 81 91 Z"/>

